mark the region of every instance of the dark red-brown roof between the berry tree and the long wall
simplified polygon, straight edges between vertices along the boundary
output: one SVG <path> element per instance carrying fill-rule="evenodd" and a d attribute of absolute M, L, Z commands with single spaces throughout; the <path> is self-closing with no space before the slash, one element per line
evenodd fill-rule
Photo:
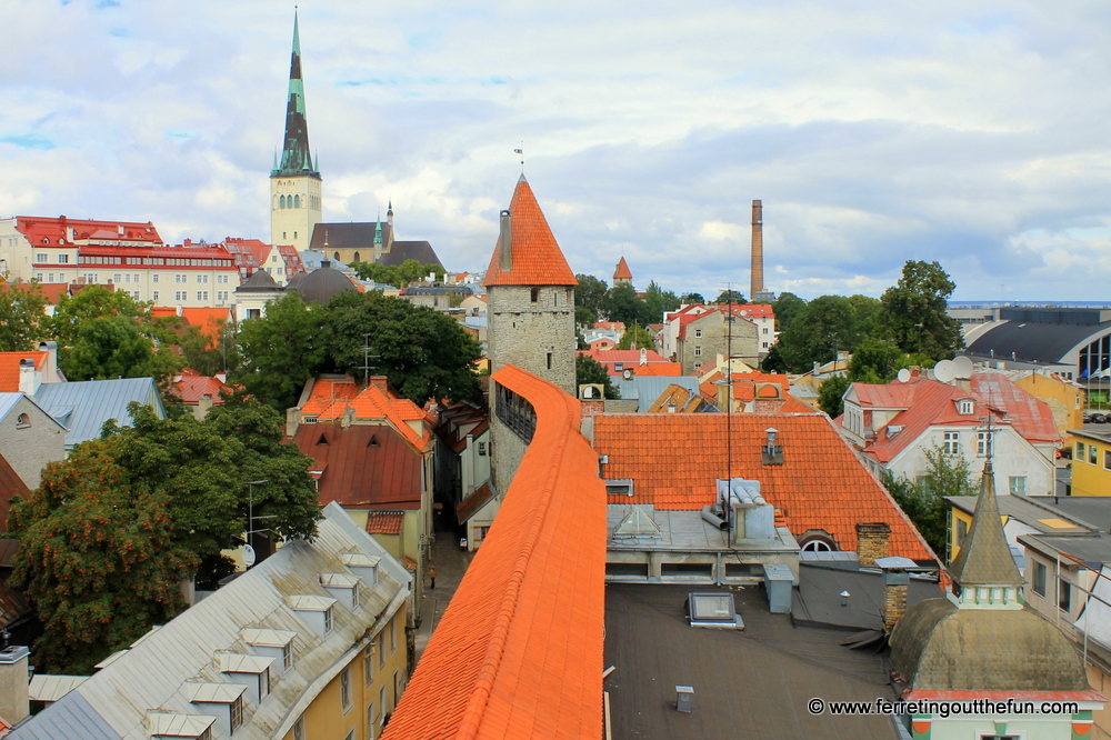
<path fill-rule="evenodd" d="M 320 503 L 350 509 L 419 509 L 421 456 L 386 426 L 301 424 L 298 449 L 322 470 Z"/>

